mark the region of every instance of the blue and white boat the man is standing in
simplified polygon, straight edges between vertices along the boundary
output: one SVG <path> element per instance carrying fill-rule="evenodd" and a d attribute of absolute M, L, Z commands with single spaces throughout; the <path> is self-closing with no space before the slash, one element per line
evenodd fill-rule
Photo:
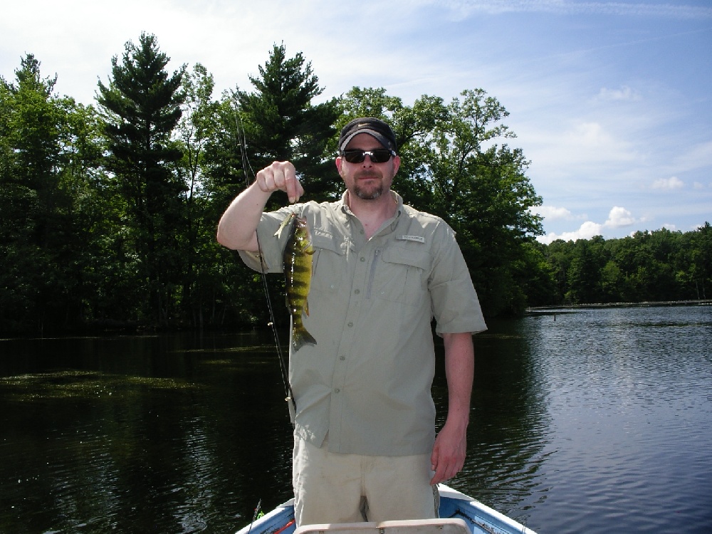
<path fill-rule="evenodd" d="M 302 525 L 294 522 L 293 499 L 256 518 L 236 534 L 536 534 L 512 518 L 440 484 L 440 518 L 381 523 Z"/>

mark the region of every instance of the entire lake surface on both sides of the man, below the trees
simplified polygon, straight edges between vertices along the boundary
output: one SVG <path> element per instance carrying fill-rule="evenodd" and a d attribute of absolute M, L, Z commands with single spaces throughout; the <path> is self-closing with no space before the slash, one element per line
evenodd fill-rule
<path fill-rule="evenodd" d="M 475 339 L 451 486 L 540 534 L 712 532 L 711 306 Z M 290 498 L 284 397 L 271 332 L 0 340 L 0 533 L 233 533 Z"/>

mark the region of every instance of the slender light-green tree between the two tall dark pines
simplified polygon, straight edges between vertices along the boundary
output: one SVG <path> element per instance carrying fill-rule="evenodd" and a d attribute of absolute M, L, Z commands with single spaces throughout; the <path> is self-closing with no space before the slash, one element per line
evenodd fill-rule
<path fill-rule="evenodd" d="M 221 323 L 228 309 L 241 309 L 245 293 L 252 292 L 237 285 L 244 282 L 236 273 L 238 265 L 215 240 L 216 223 L 242 173 L 231 98 L 213 99 L 213 77 L 201 64 L 185 73 L 181 90 L 184 112 L 175 132 L 183 152 L 176 168 L 186 205 L 180 234 L 186 271 L 181 307 L 184 321 L 202 328 Z M 239 313 L 227 319 L 239 320 Z"/>

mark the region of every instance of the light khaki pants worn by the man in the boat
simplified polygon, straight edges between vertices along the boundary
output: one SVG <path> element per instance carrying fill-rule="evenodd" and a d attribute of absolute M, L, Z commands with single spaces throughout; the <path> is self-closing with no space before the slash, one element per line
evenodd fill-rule
<path fill-rule="evenodd" d="M 294 438 L 294 512 L 298 526 L 438 516 L 430 454 L 361 456 Z"/>

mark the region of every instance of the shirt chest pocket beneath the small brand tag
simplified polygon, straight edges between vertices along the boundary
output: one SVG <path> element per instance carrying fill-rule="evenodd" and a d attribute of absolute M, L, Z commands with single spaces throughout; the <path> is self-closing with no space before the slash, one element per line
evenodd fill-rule
<path fill-rule="evenodd" d="M 409 248 L 384 248 L 376 252 L 371 271 L 370 297 L 418 305 L 428 290 L 430 255 Z"/>

